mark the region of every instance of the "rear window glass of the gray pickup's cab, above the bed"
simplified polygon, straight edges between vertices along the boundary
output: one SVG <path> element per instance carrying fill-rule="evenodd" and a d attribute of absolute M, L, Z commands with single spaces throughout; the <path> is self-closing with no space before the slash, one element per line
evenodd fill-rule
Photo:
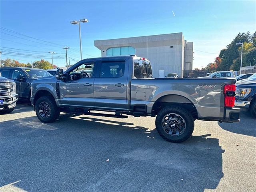
<path fill-rule="evenodd" d="M 134 59 L 134 79 L 153 78 L 150 62 L 147 60 Z"/>

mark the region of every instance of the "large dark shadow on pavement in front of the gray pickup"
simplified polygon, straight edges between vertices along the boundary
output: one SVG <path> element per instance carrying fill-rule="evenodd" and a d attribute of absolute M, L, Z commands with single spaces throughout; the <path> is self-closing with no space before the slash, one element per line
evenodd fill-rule
<path fill-rule="evenodd" d="M 70 114 L 52 124 L 1 122 L 0 133 L 0 186 L 20 180 L 14 185 L 26 191 L 203 192 L 223 177 L 224 150 L 210 134 L 175 144 L 124 120 Z"/>

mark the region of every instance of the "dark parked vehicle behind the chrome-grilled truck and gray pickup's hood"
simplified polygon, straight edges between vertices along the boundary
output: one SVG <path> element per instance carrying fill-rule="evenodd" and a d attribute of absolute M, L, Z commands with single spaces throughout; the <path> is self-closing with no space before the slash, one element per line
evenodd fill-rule
<path fill-rule="evenodd" d="M 0 72 L 3 77 L 12 79 L 16 83 L 16 92 L 20 99 L 30 99 L 30 85 L 35 79 L 51 76 L 47 71 L 26 67 L 2 67 Z"/>

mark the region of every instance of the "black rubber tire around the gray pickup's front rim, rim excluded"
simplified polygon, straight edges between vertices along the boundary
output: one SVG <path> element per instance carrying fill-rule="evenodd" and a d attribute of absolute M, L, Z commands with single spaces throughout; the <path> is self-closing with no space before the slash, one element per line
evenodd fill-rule
<path fill-rule="evenodd" d="M 46 117 L 42 117 L 40 114 L 40 104 L 46 103 L 48 104 L 48 107 L 50 108 L 50 113 Z M 56 102 L 52 96 L 42 96 L 36 101 L 35 105 L 36 110 L 36 116 L 38 119 L 44 123 L 51 123 L 58 119 L 60 116 L 60 108 L 56 105 Z"/>

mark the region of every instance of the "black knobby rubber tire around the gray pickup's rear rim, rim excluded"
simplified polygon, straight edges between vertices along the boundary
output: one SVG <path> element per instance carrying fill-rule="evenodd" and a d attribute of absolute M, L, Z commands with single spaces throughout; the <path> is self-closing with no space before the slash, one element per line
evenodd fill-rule
<path fill-rule="evenodd" d="M 178 136 L 173 136 L 166 133 L 166 130 L 164 130 L 162 126 L 162 121 L 164 121 L 164 118 L 168 118 L 168 114 L 176 114 L 182 119 L 183 122 L 185 122 L 185 129 L 184 132 L 182 132 L 182 134 Z M 171 127 L 169 129 L 171 129 Z M 165 140 L 173 143 L 180 143 L 187 140 L 192 135 L 194 131 L 194 118 L 190 114 L 190 112 L 188 112 L 188 110 L 182 107 L 166 106 L 162 110 L 160 110 L 160 112 L 158 112 L 156 116 L 156 130 L 158 134 L 160 134 L 160 136 L 162 136 L 162 138 L 164 138 Z"/>

